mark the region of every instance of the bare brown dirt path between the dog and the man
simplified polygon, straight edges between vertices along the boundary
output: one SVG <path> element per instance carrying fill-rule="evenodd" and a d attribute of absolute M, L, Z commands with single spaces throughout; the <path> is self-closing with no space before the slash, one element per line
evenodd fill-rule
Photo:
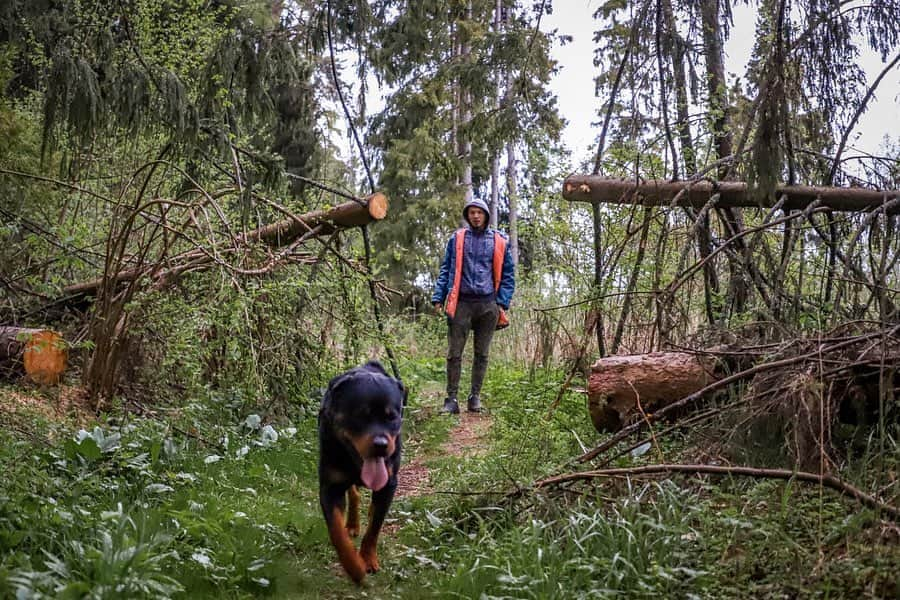
<path fill-rule="evenodd" d="M 434 418 L 459 419 L 459 423 L 450 430 L 450 439 L 441 445 L 439 456 L 473 456 L 484 451 L 481 442 L 491 428 L 491 417 L 486 413 L 461 412 L 459 417 L 437 415 Z M 415 498 L 434 493 L 429 482 L 431 473 L 428 461 L 431 454 L 419 454 L 400 469 L 400 482 L 397 487 L 397 498 Z"/>

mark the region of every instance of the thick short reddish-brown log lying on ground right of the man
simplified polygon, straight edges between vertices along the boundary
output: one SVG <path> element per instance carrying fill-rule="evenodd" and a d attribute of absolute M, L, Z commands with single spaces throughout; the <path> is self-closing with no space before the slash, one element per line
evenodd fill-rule
<path fill-rule="evenodd" d="M 719 379 L 718 361 L 687 352 L 601 358 L 591 367 L 588 408 L 600 432 L 618 431 Z M 640 408 L 638 407 L 640 402 Z"/>

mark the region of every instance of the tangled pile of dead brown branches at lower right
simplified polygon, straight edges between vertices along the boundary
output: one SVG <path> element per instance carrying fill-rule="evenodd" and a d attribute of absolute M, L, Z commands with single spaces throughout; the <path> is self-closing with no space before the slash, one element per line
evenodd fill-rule
<path fill-rule="evenodd" d="M 736 400 L 725 405 L 707 404 L 702 410 L 696 410 L 711 392 L 742 382 L 747 387 Z M 685 409 L 695 410 L 671 426 L 657 428 L 658 421 L 682 415 Z M 726 411 L 729 417 L 722 418 Z M 739 414 L 737 424 L 730 416 L 732 413 Z M 654 413 L 642 413 L 641 419 L 623 427 L 563 468 L 590 461 L 597 461 L 603 467 L 635 448 L 651 444 L 659 453 L 658 464 L 575 470 L 535 481 L 531 489 L 572 491 L 568 486 L 577 481 L 672 473 L 786 479 L 832 489 L 883 516 L 900 520 L 900 508 L 896 500 L 885 493 L 886 489 L 870 493 L 841 478 L 840 450 L 846 445 L 837 443 L 837 432 L 847 425 L 855 426 L 855 430 L 861 432 L 860 438 L 867 438 L 872 426 L 898 421 L 900 325 L 870 327 L 869 330 L 860 325 L 848 325 L 816 338 L 787 342 L 753 366 L 714 381 Z M 767 447 L 780 453 L 781 458 L 786 457 L 788 468 L 699 464 L 697 461 L 680 464 L 665 460 L 659 440 L 678 430 L 696 428 L 701 423 L 711 427 L 714 434 L 711 444 L 696 448 L 700 455 L 712 453 L 721 457 L 721 451 L 727 445 L 753 444 L 755 448 L 744 448 L 747 460 L 743 462 L 765 462 L 759 449 Z M 643 439 L 633 435 L 646 428 L 651 431 Z M 747 434 L 743 439 L 737 435 L 742 431 Z M 766 435 L 769 439 L 761 439 Z M 729 462 L 729 457 L 725 462 Z M 512 492 L 509 497 L 518 497 L 523 491 Z"/>

